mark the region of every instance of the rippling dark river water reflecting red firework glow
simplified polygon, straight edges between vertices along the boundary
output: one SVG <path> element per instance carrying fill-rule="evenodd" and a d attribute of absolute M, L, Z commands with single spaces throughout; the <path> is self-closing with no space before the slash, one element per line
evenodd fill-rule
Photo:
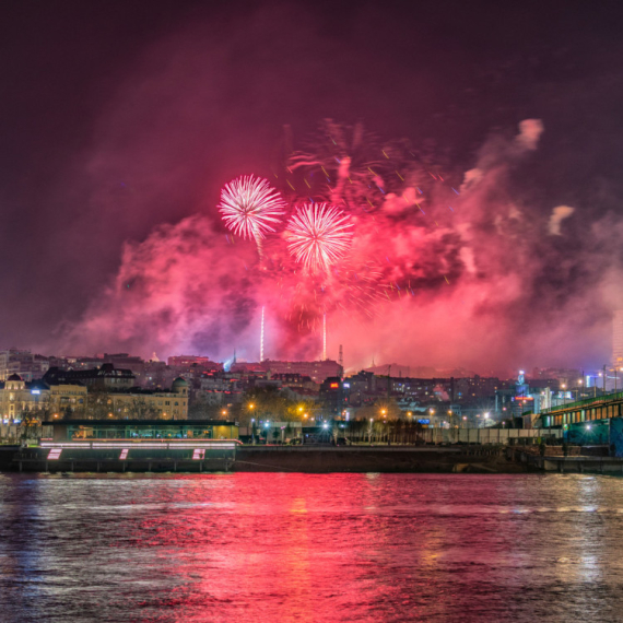
<path fill-rule="evenodd" d="M 0 621 L 623 621 L 623 480 L 0 474 Z"/>

